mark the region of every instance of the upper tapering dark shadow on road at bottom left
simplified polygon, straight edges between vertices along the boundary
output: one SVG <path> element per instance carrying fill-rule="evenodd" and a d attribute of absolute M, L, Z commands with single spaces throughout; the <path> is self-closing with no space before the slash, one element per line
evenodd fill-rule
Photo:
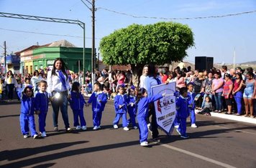
<path fill-rule="evenodd" d="M 24 157 L 33 156 L 35 154 L 40 154 L 43 152 L 49 152 L 54 151 L 58 149 L 63 149 L 65 147 L 70 147 L 76 144 L 83 144 L 88 141 L 78 141 L 78 142 L 66 142 L 66 143 L 60 143 L 60 144 L 50 144 L 47 146 L 42 147 L 34 147 L 34 148 L 24 148 L 24 149 L 14 149 L 14 150 L 5 150 L 0 152 L 0 161 L 3 160 L 17 160 L 22 159 Z M 22 162 L 22 161 L 21 161 Z M 34 163 L 36 164 L 36 163 Z M 20 164 L 22 165 L 22 164 Z M 14 167 L 19 167 L 18 165 L 13 164 Z"/>

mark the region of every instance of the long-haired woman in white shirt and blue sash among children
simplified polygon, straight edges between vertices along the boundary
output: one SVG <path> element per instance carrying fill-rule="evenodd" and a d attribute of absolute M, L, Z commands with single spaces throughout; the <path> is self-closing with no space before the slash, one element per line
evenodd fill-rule
<path fill-rule="evenodd" d="M 47 72 L 47 84 L 47 92 L 49 93 L 49 99 L 52 102 L 54 130 L 58 132 L 58 114 L 60 109 L 65 129 L 67 132 L 70 132 L 71 129 L 68 122 L 68 98 L 70 98 L 70 85 L 63 59 L 55 59 L 52 70 Z"/>

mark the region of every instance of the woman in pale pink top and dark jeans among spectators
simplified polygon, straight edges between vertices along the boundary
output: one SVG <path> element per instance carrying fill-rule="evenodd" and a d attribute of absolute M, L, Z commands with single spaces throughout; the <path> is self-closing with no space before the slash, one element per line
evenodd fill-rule
<path fill-rule="evenodd" d="M 212 94 L 214 94 L 216 110 L 214 112 L 221 113 L 222 109 L 222 93 L 223 93 L 224 80 L 221 78 L 221 73 L 216 71 L 214 73 L 214 80 L 212 81 Z"/>

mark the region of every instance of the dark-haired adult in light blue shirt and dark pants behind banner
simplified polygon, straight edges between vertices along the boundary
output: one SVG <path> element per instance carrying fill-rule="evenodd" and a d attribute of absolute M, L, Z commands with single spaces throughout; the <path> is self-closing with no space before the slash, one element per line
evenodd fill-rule
<path fill-rule="evenodd" d="M 148 64 L 148 76 L 145 78 L 145 89 L 147 90 L 148 96 L 152 97 L 152 90 L 151 87 L 161 84 L 160 76 L 157 76 L 157 66 L 155 64 L 150 63 Z M 152 115 L 151 124 L 148 124 L 148 127 L 152 129 L 152 139 L 156 139 L 158 137 L 158 130 L 157 130 L 157 119 L 155 114 L 155 105 L 154 103 L 150 103 L 149 107 L 149 116 Z"/>

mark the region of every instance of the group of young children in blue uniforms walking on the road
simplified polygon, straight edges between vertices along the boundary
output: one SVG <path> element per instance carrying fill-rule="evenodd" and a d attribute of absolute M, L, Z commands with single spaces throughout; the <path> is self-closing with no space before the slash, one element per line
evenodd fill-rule
<path fill-rule="evenodd" d="M 47 109 L 49 103 L 49 97 L 46 92 L 47 81 L 40 81 L 39 92 L 33 95 L 32 87 L 27 86 L 21 93 L 21 114 L 20 124 L 22 134 L 24 138 L 29 137 L 29 129 L 31 136 L 37 139 L 39 135 L 35 129 L 35 117 L 38 115 L 39 130 L 41 137 L 47 137 L 45 132 L 45 119 L 47 116 Z M 114 109 L 116 116 L 113 121 L 114 129 L 118 129 L 119 120 L 122 118 L 122 127 L 125 131 L 128 131 L 128 125 L 132 124 L 134 129 L 137 129 L 135 118 L 139 125 L 140 132 L 140 145 L 147 146 L 147 117 L 149 111 L 149 104 L 155 102 L 158 99 L 165 97 L 164 94 L 156 94 L 152 97 L 147 96 L 147 90 L 141 88 L 135 90 L 135 87 L 130 87 L 128 94 L 125 94 L 124 86 L 117 87 L 118 94 L 114 97 Z M 88 102 L 83 98 L 81 93 L 81 85 L 78 82 L 74 82 L 70 91 L 70 108 L 73 110 L 74 127 L 76 129 L 86 130 L 86 119 L 83 116 L 83 107 L 88 104 L 92 104 L 93 113 L 93 130 L 101 128 L 101 117 L 104 112 L 104 107 L 107 102 L 107 95 L 101 91 L 101 84 L 96 82 L 93 85 L 93 93 L 88 99 Z M 195 115 L 195 102 L 196 94 L 193 93 L 193 84 L 188 84 L 187 87 L 180 88 L 179 96 L 176 97 L 176 119 L 174 122 L 177 128 L 178 134 L 182 138 L 188 138 L 186 134 L 186 119 L 191 116 L 191 127 L 196 127 L 196 115 Z M 54 100 L 52 100 L 54 101 Z M 129 119 L 127 119 L 127 113 Z M 207 113 L 207 112 L 206 112 Z M 80 124 L 79 124 L 80 119 Z"/>

